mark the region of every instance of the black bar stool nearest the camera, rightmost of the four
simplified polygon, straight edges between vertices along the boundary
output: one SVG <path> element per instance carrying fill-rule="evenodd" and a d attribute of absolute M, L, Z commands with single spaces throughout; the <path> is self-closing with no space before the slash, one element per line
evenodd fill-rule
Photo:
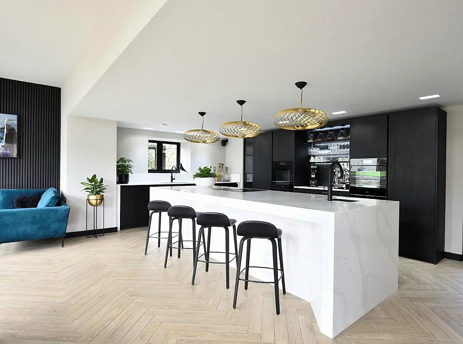
<path fill-rule="evenodd" d="M 235 281 L 235 296 L 233 298 L 233 308 L 236 308 L 236 299 L 238 297 L 238 284 L 240 280 L 244 281 L 244 289 L 248 289 L 248 282 L 255 282 L 255 283 L 273 283 L 275 286 L 275 306 L 276 306 L 276 314 L 280 314 L 280 295 L 278 291 L 278 281 L 281 279 L 281 284 L 283 286 L 283 294 L 286 294 L 286 287 L 285 287 L 285 272 L 283 268 L 283 253 L 281 251 L 281 234 L 283 231 L 281 229 L 276 228 L 274 225 L 268 222 L 262 221 L 244 221 L 241 222 L 238 226 L 238 235 L 243 236 L 240 241 L 240 253 L 238 254 L 238 269 L 236 274 L 236 281 Z M 264 266 L 249 266 L 249 256 L 251 254 L 251 239 L 268 239 L 272 243 L 272 251 L 273 251 L 273 261 L 274 266 L 272 267 L 264 267 Z M 275 239 L 278 241 L 278 250 L 276 249 L 276 242 Z M 246 245 L 246 266 L 244 269 L 240 270 L 241 268 L 241 258 L 243 257 L 243 244 L 247 241 Z M 278 257 L 280 258 L 280 269 L 278 269 Z M 271 282 L 265 281 L 257 281 L 253 279 L 249 279 L 249 268 L 261 268 L 261 269 L 273 269 L 274 270 L 274 280 Z M 239 272 L 238 272 L 239 271 Z M 241 273 L 245 271 L 244 278 L 240 278 Z M 278 278 L 278 271 L 281 271 L 281 275 Z"/>

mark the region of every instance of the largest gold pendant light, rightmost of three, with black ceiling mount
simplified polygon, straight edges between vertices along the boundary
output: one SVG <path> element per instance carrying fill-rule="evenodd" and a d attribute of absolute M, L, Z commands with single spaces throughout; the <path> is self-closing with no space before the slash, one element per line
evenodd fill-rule
<path fill-rule="evenodd" d="M 301 90 L 300 107 L 281 110 L 275 115 L 274 124 L 287 130 L 309 130 L 323 127 L 328 122 L 328 114 L 325 111 L 302 107 L 302 89 L 307 82 L 300 81 L 295 85 Z"/>

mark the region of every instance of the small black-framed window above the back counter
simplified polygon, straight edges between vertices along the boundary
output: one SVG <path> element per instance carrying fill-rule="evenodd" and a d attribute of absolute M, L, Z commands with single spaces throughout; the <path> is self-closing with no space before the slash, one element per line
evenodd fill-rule
<path fill-rule="evenodd" d="M 172 166 L 180 166 L 180 143 L 148 141 L 148 172 L 170 173 Z"/>

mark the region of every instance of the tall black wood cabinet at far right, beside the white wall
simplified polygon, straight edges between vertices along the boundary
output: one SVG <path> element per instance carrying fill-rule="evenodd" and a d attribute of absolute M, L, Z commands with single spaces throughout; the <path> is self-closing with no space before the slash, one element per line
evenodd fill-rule
<path fill-rule="evenodd" d="M 444 258 L 446 112 L 389 115 L 388 154 L 388 199 L 400 202 L 399 255 L 436 264 Z"/>

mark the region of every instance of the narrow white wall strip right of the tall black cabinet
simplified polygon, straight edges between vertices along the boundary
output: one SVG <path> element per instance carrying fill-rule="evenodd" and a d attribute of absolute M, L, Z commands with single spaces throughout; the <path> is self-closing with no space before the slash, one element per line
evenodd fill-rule
<path fill-rule="evenodd" d="M 446 252 L 462 254 L 463 246 L 463 105 L 447 112 Z"/>

